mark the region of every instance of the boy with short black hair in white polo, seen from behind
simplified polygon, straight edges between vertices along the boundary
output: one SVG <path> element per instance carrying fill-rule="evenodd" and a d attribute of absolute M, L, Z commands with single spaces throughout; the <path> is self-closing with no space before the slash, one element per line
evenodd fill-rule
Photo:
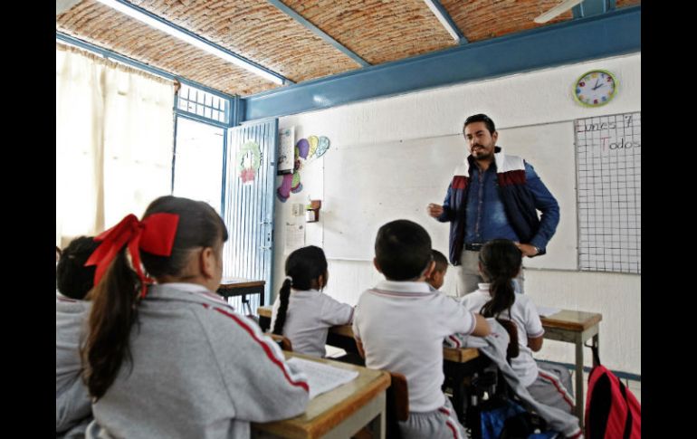
<path fill-rule="evenodd" d="M 402 437 L 467 437 L 441 390 L 442 343 L 455 332 L 486 336 L 489 324 L 425 282 L 435 263 L 421 225 L 396 220 L 380 227 L 373 263 L 386 279 L 361 294 L 353 332 L 367 367 L 406 377 L 409 417 L 399 422 Z"/>

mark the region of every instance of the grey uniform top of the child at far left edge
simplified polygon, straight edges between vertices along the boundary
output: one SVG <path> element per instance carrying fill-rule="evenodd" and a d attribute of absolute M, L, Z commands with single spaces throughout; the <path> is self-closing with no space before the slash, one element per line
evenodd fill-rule
<path fill-rule="evenodd" d="M 56 291 L 55 428 L 56 437 L 84 434 L 91 421 L 91 400 L 80 377 L 80 342 L 84 337 L 89 301 L 77 301 Z"/>

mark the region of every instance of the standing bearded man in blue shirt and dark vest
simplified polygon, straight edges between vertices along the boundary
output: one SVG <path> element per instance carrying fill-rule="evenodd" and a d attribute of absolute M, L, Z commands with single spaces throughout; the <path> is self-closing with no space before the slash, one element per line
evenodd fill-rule
<path fill-rule="evenodd" d="M 557 200 L 530 163 L 504 155 L 496 146 L 499 133 L 492 119 L 485 114 L 470 116 L 463 133 L 470 155 L 455 168 L 443 205 L 428 205 L 429 215 L 450 222 L 449 259 L 462 265 L 458 296 L 477 290 L 477 283 L 483 282 L 479 250 L 484 243 L 510 239 L 525 256 L 537 256 L 545 253 L 559 224 Z M 523 292 L 522 271 L 516 291 Z"/>

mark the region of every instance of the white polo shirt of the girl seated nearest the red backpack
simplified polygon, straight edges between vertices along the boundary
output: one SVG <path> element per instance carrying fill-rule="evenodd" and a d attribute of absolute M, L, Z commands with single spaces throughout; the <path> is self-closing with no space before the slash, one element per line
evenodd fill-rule
<path fill-rule="evenodd" d="M 515 294 L 515 301 L 511 306 L 511 316 L 508 310 L 501 312 L 502 319 L 513 320 L 518 327 L 518 344 L 520 354 L 516 358 L 511 358 L 511 367 L 520 378 L 520 383 L 528 387 L 538 377 L 538 365 L 532 358 L 532 350 L 528 348 L 528 337 L 542 337 L 545 330 L 542 329 L 542 321 L 539 320 L 538 310 L 532 303 L 529 296 Z M 479 312 L 492 296 L 489 294 L 489 284 L 480 283 L 479 290 L 473 291 L 464 296 L 460 302 L 467 310 Z"/>

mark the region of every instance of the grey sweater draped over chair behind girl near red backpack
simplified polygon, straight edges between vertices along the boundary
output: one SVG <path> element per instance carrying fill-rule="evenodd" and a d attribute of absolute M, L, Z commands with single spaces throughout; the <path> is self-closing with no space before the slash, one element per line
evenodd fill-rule
<path fill-rule="evenodd" d="M 491 358 L 496 366 L 499 367 L 506 382 L 513 388 L 516 395 L 520 396 L 523 404 L 527 408 L 534 410 L 540 415 L 550 429 L 560 432 L 567 437 L 574 439 L 582 438 L 580 427 L 578 426 L 578 417 L 569 415 L 557 407 L 547 406 L 539 403 L 532 396 L 526 387 L 520 384 L 518 375 L 513 371 L 511 365 L 506 361 L 506 348 L 508 348 L 509 335 L 501 324 L 495 319 L 487 319 L 489 326 L 492 327 L 492 333 L 486 337 L 471 337 L 462 334 L 455 334 L 461 340 L 465 348 L 479 348 L 479 350 Z"/>

